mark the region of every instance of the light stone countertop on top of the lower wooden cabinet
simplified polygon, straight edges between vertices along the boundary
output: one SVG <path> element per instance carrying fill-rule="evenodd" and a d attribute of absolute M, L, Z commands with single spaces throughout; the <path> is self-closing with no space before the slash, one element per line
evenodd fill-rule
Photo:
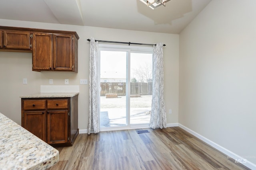
<path fill-rule="evenodd" d="M 20 96 L 20 98 L 71 98 L 78 95 L 79 92 L 69 92 L 69 93 L 36 93 L 26 96 Z"/>

